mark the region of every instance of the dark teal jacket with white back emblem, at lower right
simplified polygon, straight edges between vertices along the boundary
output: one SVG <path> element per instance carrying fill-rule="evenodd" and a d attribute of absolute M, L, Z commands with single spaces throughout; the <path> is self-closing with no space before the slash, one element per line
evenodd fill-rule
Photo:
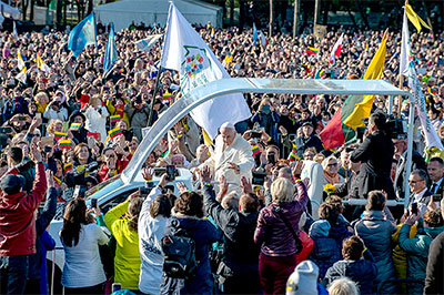
<path fill-rule="evenodd" d="M 400 247 L 407 252 L 407 279 L 420 281 L 407 284 L 408 294 L 422 294 L 425 282 L 425 269 L 427 267 L 428 247 L 433 238 L 444 232 L 444 226 L 425 228 L 418 226 L 418 232 L 413 238 L 408 238 L 410 227 L 407 224 L 401 227 L 398 243 Z"/>

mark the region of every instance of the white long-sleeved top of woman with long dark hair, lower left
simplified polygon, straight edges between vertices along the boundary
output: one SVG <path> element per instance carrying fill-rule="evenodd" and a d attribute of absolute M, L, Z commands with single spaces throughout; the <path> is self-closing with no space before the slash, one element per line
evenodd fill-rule
<path fill-rule="evenodd" d="M 95 223 L 81 225 L 79 243 L 75 246 L 67 246 L 62 241 L 64 250 L 62 285 L 81 288 L 105 282 L 99 245 L 104 245 L 108 241 L 109 237 Z"/>

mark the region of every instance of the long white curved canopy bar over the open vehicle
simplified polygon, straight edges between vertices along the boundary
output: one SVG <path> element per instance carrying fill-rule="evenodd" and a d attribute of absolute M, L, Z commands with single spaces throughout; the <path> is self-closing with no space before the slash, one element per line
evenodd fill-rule
<path fill-rule="evenodd" d="M 163 135 L 184 115 L 198 105 L 216 96 L 230 93 L 291 93 L 291 94 L 340 94 L 340 95 L 404 95 L 413 98 L 382 80 L 302 80 L 302 79 L 248 79 L 230 78 L 196 88 L 163 112 L 139 144 L 131 162 L 121 177 L 128 184 L 134 180 L 145 159 Z M 229 102 L 228 102 L 229 103 Z"/>

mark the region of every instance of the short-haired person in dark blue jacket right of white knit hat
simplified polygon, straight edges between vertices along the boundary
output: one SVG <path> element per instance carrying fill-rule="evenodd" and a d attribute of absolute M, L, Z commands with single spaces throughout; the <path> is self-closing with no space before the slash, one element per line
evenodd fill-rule
<path fill-rule="evenodd" d="M 327 269 L 323 285 L 349 277 L 356 283 L 360 294 L 375 294 L 373 281 L 376 278 L 377 268 L 372 254 L 365 248 L 364 241 L 356 235 L 345 238 L 342 255 L 344 260 L 335 262 Z"/>

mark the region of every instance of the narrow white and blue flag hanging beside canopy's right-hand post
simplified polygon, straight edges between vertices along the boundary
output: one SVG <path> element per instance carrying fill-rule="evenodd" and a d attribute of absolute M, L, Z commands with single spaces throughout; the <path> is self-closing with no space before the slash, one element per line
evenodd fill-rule
<path fill-rule="evenodd" d="M 436 130 L 433 128 L 432 122 L 427 116 L 424 93 L 421 89 L 421 84 L 415 70 L 415 64 L 413 62 L 412 48 L 410 44 L 407 14 L 405 13 L 405 10 L 402 31 L 400 73 L 408 77 L 408 87 L 413 90 L 413 95 L 416 99 L 417 114 L 420 116 L 421 125 L 425 133 L 425 145 L 427 148 L 436 146 L 438 150 L 444 151 L 444 146 L 441 143 L 440 138 L 437 136 Z"/>

